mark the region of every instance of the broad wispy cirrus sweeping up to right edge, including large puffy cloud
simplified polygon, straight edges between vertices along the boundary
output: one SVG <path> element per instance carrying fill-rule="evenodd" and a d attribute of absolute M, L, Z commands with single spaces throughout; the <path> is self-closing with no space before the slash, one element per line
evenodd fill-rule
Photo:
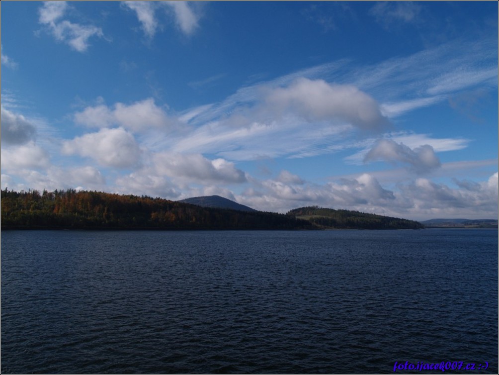
<path fill-rule="evenodd" d="M 349 161 L 362 163 L 376 139 L 353 139 L 356 127 L 380 129 L 388 120 L 397 121 L 475 87 L 494 87 L 497 58 L 490 52 L 494 48 L 493 39 L 460 40 L 376 65 L 338 60 L 302 69 L 242 87 L 219 103 L 192 108 L 182 116 L 192 132 L 175 145 L 161 137 L 154 142 L 179 152 L 213 153 L 232 160 L 302 158 L 360 148 Z M 462 76 L 463 71 L 473 73 Z M 353 100 L 341 103 L 339 93 L 348 90 Z M 368 113 L 363 124 L 361 116 Z M 462 138 L 437 140 L 409 133 L 393 140 L 411 149 L 429 144 L 435 152 L 462 149 L 468 143 Z"/>

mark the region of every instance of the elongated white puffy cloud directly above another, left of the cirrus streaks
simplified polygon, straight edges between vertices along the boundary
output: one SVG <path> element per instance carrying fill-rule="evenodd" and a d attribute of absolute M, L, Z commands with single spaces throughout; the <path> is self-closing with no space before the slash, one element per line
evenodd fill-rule
<path fill-rule="evenodd" d="M 74 118 L 77 123 L 86 126 L 119 125 L 134 132 L 150 128 L 165 128 L 174 124 L 174 120 L 156 105 L 153 98 L 130 105 L 116 103 L 113 108 L 103 104 L 86 107 L 82 112 L 77 112 Z"/>

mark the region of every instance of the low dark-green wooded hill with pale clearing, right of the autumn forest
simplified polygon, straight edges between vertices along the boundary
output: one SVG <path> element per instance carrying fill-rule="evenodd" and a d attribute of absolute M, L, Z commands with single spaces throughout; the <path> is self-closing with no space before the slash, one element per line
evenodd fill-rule
<path fill-rule="evenodd" d="M 422 229 L 424 226 L 413 220 L 366 214 L 358 211 L 333 210 L 317 206 L 301 207 L 286 215 L 308 220 L 321 229 Z"/>

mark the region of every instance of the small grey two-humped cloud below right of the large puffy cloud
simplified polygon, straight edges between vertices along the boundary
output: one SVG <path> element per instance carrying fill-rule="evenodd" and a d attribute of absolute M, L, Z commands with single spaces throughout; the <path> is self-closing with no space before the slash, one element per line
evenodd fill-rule
<path fill-rule="evenodd" d="M 364 157 L 364 161 L 384 160 L 390 163 L 408 164 L 418 173 L 440 167 L 440 160 L 432 146 L 426 144 L 414 149 L 391 139 L 378 140 Z"/>

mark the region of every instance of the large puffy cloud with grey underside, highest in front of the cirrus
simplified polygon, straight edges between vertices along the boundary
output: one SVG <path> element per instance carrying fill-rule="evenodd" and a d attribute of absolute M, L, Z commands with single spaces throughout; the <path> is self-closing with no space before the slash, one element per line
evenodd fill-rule
<path fill-rule="evenodd" d="M 388 124 L 379 104 L 352 85 L 329 84 L 322 79 L 299 78 L 287 87 L 273 89 L 268 105 L 294 112 L 307 121 L 346 121 L 363 130 L 380 130 Z"/>

